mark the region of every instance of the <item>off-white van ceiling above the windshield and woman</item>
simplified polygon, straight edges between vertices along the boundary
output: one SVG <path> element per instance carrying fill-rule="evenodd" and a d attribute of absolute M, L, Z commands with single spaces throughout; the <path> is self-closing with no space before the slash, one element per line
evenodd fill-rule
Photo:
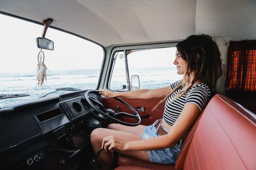
<path fill-rule="evenodd" d="M 103 46 L 201 33 L 256 39 L 256 0 L 0 0 L 0 11 L 41 23 L 52 18 L 51 26 Z"/>

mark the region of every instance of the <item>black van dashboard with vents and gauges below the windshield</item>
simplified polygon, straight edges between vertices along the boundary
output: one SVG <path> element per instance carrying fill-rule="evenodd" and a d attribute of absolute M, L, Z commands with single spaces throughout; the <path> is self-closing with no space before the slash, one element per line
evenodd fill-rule
<path fill-rule="evenodd" d="M 62 155 L 59 163 L 64 163 L 84 148 L 90 157 L 90 132 L 106 127 L 110 121 L 99 117 L 86 101 L 85 92 L 49 96 L 0 108 L 1 169 L 38 169 L 42 168 L 41 164 L 45 165 L 38 162 L 51 164 L 52 157 L 60 159 L 59 155 Z M 101 102 L 97 94 L 90 93 L 90 97 Z"/>

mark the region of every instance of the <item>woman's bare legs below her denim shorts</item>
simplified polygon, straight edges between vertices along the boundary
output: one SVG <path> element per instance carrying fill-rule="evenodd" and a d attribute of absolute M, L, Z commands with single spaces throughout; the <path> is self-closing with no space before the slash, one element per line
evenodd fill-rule
<path fill-rule="evenodd" d="M 90 136 L 94 153 L 97 153 L 98 150 L 101 148 L 102 140 L 106 136 L 114 135 L 124 141 L 142 140 L 139 134 L 142 134 L 144 132 L 145 127 L 146 126 L 142 126 L 142 125 L 130 127 L 130 126 L 123 126 L 120 124 L 113 124 L 113 125 L 110 125 L 108 128 L 120 129 L 124 131 L 107 129 L 107 128 L 94 129 Z M 136 132 L 136 133 L 133 133 L 133 132 Z M 148 154 L 147 152 L 144 152 L 144 151 L 124 151 L 120 153 L 149 161 Z M 110 151 L 105 152 L 103 150 L 98 157 L 98 162 L 101 165 L 102 170 L 114 169 L 114 156 Z"/>

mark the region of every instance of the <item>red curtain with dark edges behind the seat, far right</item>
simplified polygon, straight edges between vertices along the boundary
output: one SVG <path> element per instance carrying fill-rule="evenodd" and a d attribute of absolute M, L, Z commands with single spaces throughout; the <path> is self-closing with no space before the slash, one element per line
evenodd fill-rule
<path fill-rule="evenodd" d="M 229 42 L 226 85 L 227 95 L 256 97 L 256 40 Z"/>

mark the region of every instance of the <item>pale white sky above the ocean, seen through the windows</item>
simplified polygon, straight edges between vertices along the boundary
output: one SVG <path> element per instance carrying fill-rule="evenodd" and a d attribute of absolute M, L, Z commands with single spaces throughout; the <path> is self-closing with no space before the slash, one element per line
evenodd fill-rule
<path fill-rule="evenodd" d="M 0 73 L 36 71 L 38 53 L 36 38 L 42 36 L 43 26 L 0 14 Z M 65 35 L 64 35 L 65 34 Z M 45 38 L 54 41 L 54 50 L 43 50 L 45 65 L 50 70 L 101 68 L 103 50 L 76 36 L 48 28 Z M 167 54 L 166 54 L 167 53 Z M 145 53 L 135 62 L 143 67 L 149 57 L 162 57 L 148 66 L 174 66 L 174 50 Z M 162 62 L 165 61 L 165 62 Z M 93 64 L 92 64 L 93 63 Z"/>

